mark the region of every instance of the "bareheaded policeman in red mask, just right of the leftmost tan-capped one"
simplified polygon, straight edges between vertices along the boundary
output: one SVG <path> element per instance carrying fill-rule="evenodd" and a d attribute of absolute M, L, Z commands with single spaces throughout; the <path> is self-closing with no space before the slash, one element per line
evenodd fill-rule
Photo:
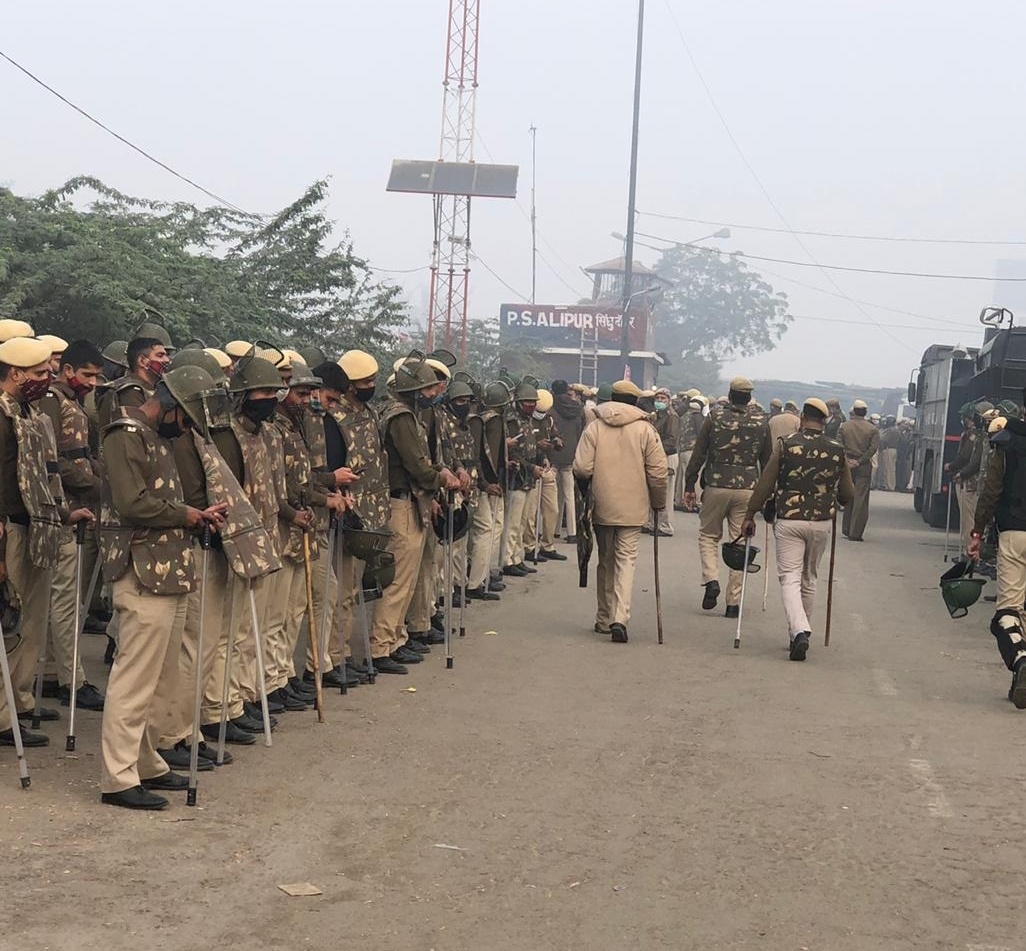
<path fill-rule="evenodd" d="M 98 460 L 90 445 L 89 418 L 83 408 L 85 397 L 96 386 L 104 358 L 88 341 L 75 341 L 64 351 L 64 363 L 50 384 L 50 391 L 39 401 L 56 435 L 57 467 L 64 498 L 73 509 L 100 510 L 100 486 L 104 478 Z M 82 581 L 88 584 L 100 553 L 98 536 L 87 531 L 82 548 Z M 79 546 L 75 530 L 65 529 L 61 560 L 53 572 L 50 592 L 49 637 L 56 667 L 57 692 L 64 705 L 70 704 L 72 661 L 75 648 L 75 608 L 88 594 L 79 590 L 76 563 Z M 88 606 L 88 605 L 87 605 Z M 74 678 L 75 705 L 83 710 L 103 710 L 104 695 L 85 679 L 79 662 Z M 43 683 L 44 696 L 48 692 Z"/>

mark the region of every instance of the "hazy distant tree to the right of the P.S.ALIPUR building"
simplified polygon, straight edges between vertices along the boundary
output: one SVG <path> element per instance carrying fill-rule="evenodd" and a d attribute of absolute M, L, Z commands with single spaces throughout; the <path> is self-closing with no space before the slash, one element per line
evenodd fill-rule
<path fill-rule="evenodd" d="M 656 349 L 673 362 L 660 371 L 669 386 L 708 392 L 724 361 L 773 350 L 791 322 L 787 295 L 738 255 L 676 244 L 656 271 L 670 282 L 653 309 Z"/>

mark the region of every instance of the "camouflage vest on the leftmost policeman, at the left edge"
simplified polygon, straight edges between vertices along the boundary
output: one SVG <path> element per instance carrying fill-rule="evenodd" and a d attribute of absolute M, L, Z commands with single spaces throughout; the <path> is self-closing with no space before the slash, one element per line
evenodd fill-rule
<path fill-rule="evenodd" d="M 29 514 L 29 561 L 56 567 L 64 540 L 64 511 L 57 451 L 49 418 L 31 403 L 0 392 L 0 413 L 10 420 L 17 440 L 17 488 Z"/>

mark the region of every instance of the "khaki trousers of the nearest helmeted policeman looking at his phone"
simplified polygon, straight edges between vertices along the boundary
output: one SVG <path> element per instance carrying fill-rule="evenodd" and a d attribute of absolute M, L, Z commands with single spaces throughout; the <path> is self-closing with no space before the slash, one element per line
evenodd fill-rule
<path fill-rule="evenodd" d="M 131 567 L 114 583 L 121 627 L 101 728 L 101 792 L 121 792 L 169 771 L 157 743 L 167 706 L 182 688 L 188 601 L 188 594 L 153 594 Z"/>

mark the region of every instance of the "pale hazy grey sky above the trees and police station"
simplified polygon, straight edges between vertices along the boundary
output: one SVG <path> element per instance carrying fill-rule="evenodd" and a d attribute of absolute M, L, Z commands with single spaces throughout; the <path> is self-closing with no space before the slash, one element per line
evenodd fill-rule
<path fill-rule="evenodd" d="M 625 228 L 636 3 L 481 7 L 476 157 L 519 164 L 521 197 L 475 205 L 474 249 L 529 293 L 535 124 L 541 249 L 551 265 L 540 264 L 539 301 L 566 303 L 588 292 L 579 266 L 620 252 L 609 233 Z M 638 207 L 782 228 L 716 117 L 671 8 L 792 228 L 1026 240 L 1021 3 L 647 0 Z M 247 209 L 277 209 L 330 175 L 331 214 L 357 251 L 381 268 L 412 269 L 429 260 L 430 200 L 387 194 L 385 184 L 393 158 L 437 155 L 446 9 L 446 0 L 7 4 L 0 49 Z M 3 61 L 0 120 L 0 181 L 16 192 L 88 173 L 130 194 L 206 202 Z M 647 215 L 638 227 L 679 241 L 715 230 Z M 1026 247 L 804 242 L 822 264 L 990 276 L 1010 259 L 1010 273 L 1026 276 Z M 718 244 L 810 260 L 788 234 L 735 229 Z M 795 315 L 856 323 L 795 320 L 776 351 L 726 372 L 897 386 L 929 344 L 978 343 L 985 305 L 1015 309 L 1018 293 L 1026 322 L 1026 284 L 999 296 L 990 282 L 832 272 L 842 295 L 920 315 L 909 316 L 863 313 L 816 268 L 760 267 Z M 422 308 L 427 272 L 395 279 Z M 474 316 L 516 300 L 475 268 Z"/>

